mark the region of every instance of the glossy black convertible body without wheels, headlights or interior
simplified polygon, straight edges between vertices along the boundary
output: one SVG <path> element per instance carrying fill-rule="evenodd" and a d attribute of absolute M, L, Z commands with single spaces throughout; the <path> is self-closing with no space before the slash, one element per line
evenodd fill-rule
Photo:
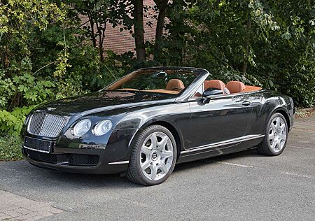
<path fill-rule="evenodd" d="M 209 76 L 207 70 L 167 67 L 140 71 L 178 69 L 197 74 L 180 94 L 103 90 L 38 106 L 29 113 L 22 129 L 22 151 L 27 161 L 66 172 L 125 173 L 134 138 L 151 124 L 172 132 L 176 163 L 258 145 L 273 113 L 281 113 L 289 128 L 293 125 L 293 101 L 279 92 L 221 94 L 204 102 L 204 97 L 193 94 Z M 81 137 L 73 136 L 73 126 L 83 119 L 92 125 L 108 119 L 113 127 L 104 136 L 94 136 L 92 129 Z M 43 122 L 47 124 L 44 129 Z"/>

